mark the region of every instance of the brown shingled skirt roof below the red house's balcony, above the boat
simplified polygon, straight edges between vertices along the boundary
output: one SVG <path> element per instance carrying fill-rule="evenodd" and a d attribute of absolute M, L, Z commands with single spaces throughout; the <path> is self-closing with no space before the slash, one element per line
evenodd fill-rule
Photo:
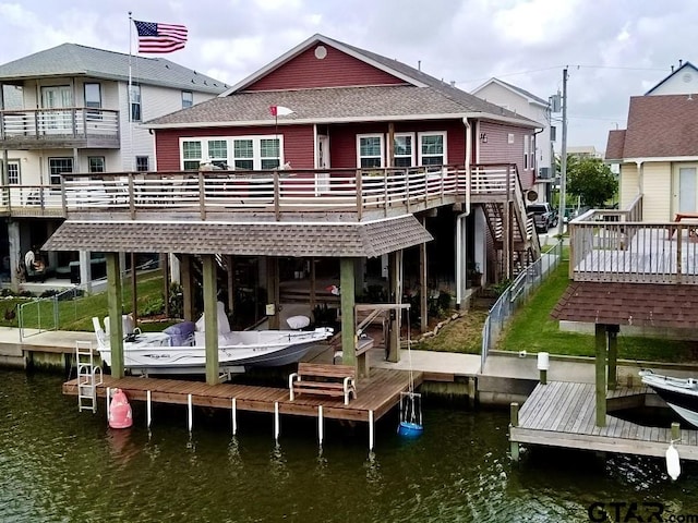
<path fill-rule="evenodd" d="M 374 257 L 432 240 L 412 215 L 347 223 L 63 222 L 47 251 Z"/>

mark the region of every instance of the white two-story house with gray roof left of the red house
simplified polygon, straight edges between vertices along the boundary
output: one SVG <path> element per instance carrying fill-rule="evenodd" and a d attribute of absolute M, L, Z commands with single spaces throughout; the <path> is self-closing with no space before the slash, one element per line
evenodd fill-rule
<path fill-rule="evenodd" d="M 163 58 L 75 44 L 0 65 L 0 148 L 10 204 L 0 228 L 4 280 L 11 276 L 16 287 L 24 253 L 63 221 L 57 190 L 67 174 L 153 170 L 153 136 L 142 122 L 227 87 Z M 46 256 L 49 270 L 61 268 L 64 277 L 77 259 L 77 253 Z M 89 280 L 88 259 L 81 253 L 83 282 Z"/>

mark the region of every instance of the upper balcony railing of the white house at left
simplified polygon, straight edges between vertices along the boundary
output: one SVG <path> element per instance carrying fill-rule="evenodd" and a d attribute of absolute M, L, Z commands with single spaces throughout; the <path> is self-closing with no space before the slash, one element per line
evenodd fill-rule
<path fill-rule="evenodd" d="M 77 107 L 2 110 L 0 141 L 22 146 L 65 141 L 110 146 L 119 142 L 119 111 Z"/>

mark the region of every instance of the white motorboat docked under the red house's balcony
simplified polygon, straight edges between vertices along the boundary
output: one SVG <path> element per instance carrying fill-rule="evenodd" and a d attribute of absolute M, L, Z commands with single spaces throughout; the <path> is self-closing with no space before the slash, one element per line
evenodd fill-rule
<path fill-rule="evenodd" d="M 329 327 L 314 330 L 229 330 L 228 319 L 218 308 L 218 367 L 221 375 L 244 373 L 251 367 L 274 367 L 298 362 L 308 351 L 334 333 Z M 222 315 L 221 315 L 222 312 Z M 111 366 L 109 337 L 93 318 L 97 350 Z M 123 366 L 131 374 L 205 374 L 206 333 L 203 317 L 177 324 L 163 332 L 128 333 L 123 341 Z M 185 327 L 185 328 L 184 328 Z M 191 329 L 191 331 L 190 331 Z"/>

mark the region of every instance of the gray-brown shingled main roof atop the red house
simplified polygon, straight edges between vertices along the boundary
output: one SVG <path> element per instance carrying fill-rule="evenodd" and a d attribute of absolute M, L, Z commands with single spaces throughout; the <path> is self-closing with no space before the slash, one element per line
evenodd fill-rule
<path fill-rule="evenodd" d="M 407 85 L 324 87 L 274 92 L 245 92 L 272 71 L 282 66 L 315 44 L 334 47 L 358 60 L 404 80 Z M 541 123 L 490 104 L 414 68 L 371 51 L 314 35 L 256 73 L 237 83 L 219 96 L 163 118 L 147 122 L 153 129 L 171 126 L 242 126 L 270 125 L 274 118 L 268 106 L 292 108 L 286 123 L 359 122 L 366 120 L 428 120 L 446 118 L 481 118 L 526 127 Z"/>

